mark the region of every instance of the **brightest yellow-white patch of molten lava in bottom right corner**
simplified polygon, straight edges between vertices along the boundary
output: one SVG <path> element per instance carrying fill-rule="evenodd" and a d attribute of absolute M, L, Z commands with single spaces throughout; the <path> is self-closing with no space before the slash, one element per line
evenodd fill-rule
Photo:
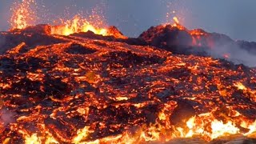
<path fill-rule="evenodd" d="M 200 135 L 204 139 L 210 141 L 214 138 L 229 136 L 232 134 L 243 134 L 246 136 L 253 133 L 255 129 L 254 122 L 241 121 L 243 119 L 242 115 L 239 114 L 237 111 L 232 111 L 231 113 L 234 113 L 233 117 L 237 118 L 233 120 L 230 119 L 227 122 L 218 120 L 214 117 L 213 113 L 199 114 L 197 116 L 194 116 L 186 122 L 186 128 L 176 128 L 181 133 L 178 135 L 186 138 Z M 242 123 L 246 123 L 242 127 L 249 129 L 250 131 L 248 133 L 243 133 L 238 128 L 238 126 L 242 125 Z M 186 130 L 187 128 L 189 130 Z"/>

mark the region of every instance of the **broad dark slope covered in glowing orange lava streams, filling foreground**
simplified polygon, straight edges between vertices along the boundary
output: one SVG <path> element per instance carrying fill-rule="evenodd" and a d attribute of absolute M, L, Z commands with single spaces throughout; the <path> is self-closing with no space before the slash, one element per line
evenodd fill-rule
<path fill-rule="evenodd" d="M 0 56 L 2 142 L 256 142 L 254 69 L 51 37 L 62 43 L 21 53 L 25 42 Z M 238 135 L 215 139 L 230 134 Z"/>

